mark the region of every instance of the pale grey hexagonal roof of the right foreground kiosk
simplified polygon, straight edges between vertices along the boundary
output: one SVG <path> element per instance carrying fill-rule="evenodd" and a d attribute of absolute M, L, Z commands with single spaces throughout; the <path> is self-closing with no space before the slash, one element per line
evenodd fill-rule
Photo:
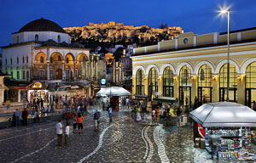
<path fill-rule="evenodd" d="M 203 104 L 189 113 L 203 127 L 256 127 L 256 112 L 249 107 L 230 102 Z"/>

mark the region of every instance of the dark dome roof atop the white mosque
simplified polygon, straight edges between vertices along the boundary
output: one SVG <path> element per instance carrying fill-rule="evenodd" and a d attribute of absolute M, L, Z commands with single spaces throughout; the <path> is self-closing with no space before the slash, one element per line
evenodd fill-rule
<path fill-rule="evenodd" d="M 66 33 L 60 25 L 57 25 L 53 21 L 45 20 L 44 18 L 41 18 L 39 20 L 33 20 L 27 23 L 22 28 L 20 28 L 20 31 L 18 32 L 23 31 L 56 31 Z"/>

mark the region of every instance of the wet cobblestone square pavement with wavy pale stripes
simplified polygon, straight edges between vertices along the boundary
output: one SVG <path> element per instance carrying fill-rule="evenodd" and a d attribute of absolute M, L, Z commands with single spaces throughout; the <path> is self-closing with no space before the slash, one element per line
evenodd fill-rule
<path fill-rule="evenodd" d="M 69 146 L 56 146 L 56 121 L 0 130 L 0 162 L 216 162 L 193 147 L 191 126 L 150 126 L 135 122 L 129 110 L 115 112 L 109 123 L 102 111 L 95 132 L 92 113 L 84 116 L 84 133 L 70 135 Z"/>

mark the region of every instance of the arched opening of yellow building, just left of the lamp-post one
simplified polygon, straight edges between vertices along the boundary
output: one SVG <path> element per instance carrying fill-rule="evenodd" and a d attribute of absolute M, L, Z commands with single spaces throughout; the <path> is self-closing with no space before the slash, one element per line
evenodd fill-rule
<path fill-rule="evenodd" d="M 201 65 L 198 70 L 198 101 L 199 104 L 212 103 L 212 68 Z"/>

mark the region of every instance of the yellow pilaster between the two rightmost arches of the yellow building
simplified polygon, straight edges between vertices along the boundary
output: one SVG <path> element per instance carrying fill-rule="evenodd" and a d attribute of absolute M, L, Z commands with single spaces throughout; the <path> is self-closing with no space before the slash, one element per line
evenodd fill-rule
<path fill-rule="evenodd" d="M 244 75 L 238 75 L 239 77 L 237 78 L 237 103 L 239 104 L 245 104 L 245 78 Z"/>

